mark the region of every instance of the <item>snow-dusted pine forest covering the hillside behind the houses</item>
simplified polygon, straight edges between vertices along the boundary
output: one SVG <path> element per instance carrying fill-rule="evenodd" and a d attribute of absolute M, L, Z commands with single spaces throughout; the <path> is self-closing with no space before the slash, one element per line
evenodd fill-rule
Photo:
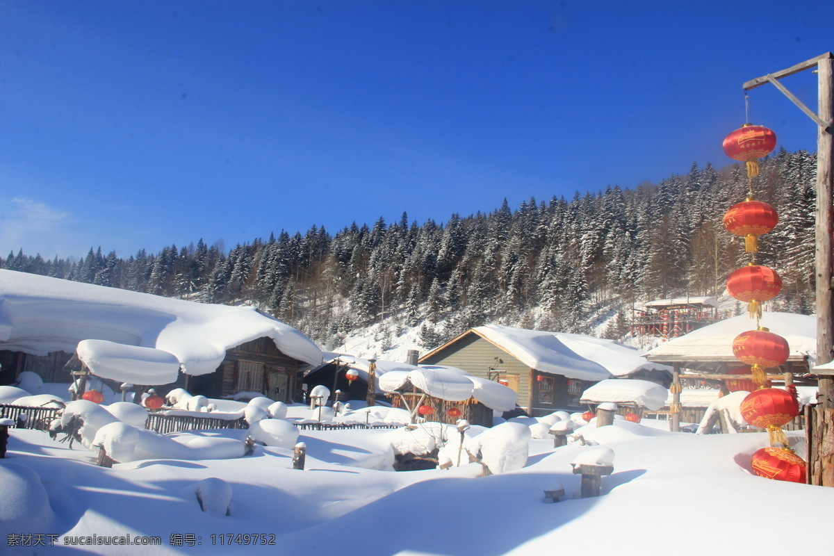
<path fill-rule="evenodd" d="M 780 215 L 757 256 L 785 283 L 772 310 L 807 314 L 813 306 L 815 180 L 816 154 L 782 150 L 762 162 L 754 181 L 756 198 Z M 0 267 L 206 303 L 252 303 L 327 348 L 374 323 L 382 352 L 384 336 L 407 328 L 420 331 L 422 347 L 434 348 L 483 323 L 620 338 L 633 303 L 721 294 L 726 275 L 749 260 L 743 240 L 721 224 L 746 192 L 743 165 L 693 164 L 657 184 L 531 198 L 515 211 L 505 201 L 492 213 L 455 213 L 445 223 L 420 225 L 403 213 L 399 222 L 379 218 L 334 234 L 324 225 L 282 231 L 228 254 L 200 239 L 126 259 L 101 248 L 78 261 L 10 253 Z M 603 320 L 609 325 L 600 329 Z"/>

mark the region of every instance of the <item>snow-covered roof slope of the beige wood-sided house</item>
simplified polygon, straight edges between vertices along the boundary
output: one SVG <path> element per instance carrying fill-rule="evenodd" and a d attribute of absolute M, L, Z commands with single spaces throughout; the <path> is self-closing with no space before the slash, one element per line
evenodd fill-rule
<path fill-rule="evenodd" d="M 473 331 L 542 373 L 599 381 L 626 377 L 641 369 L 671 371 L 666 365 L 646 361 L 636 348 L 614 340 L 500 324 L 479 326 Z"/>

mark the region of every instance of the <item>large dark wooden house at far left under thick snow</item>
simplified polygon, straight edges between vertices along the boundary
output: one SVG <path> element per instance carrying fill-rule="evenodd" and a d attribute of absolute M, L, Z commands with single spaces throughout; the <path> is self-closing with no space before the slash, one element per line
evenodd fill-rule
<path fill-rule="evenodd" d="M 132 383 L 159 393 L 182 387 L 213 398 L 292 401 L 301 397 L 300 374 L 322 360 L 303 333 L 252 307 L 9 270 L 0 270 L 0 284 L 0 384 L 23 371 L 69 383 L 71 371 L 88 370 L 117 392 Z"/>

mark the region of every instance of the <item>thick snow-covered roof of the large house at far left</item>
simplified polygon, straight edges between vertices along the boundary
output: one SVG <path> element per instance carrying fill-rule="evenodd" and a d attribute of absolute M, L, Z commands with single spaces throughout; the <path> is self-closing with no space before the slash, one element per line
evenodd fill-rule
<path fill-rule="evenodd" d="M 184 373 L 212 373 L 227 349 L 263 337 L 272 338 L 291 358 L 321 363 L 321 350 L 303 333 L 253 307 L 194 303 L 0 270 L 0 349 L 73 353 L 83 340 L 104 340 L 108 344 L 93 343 L 84 350 L 91 369 L 123 382 L 158 383 L 147 381 L 160 379 L 166 352 Z M 119 373 L 126 365 L 130 370 Z"/>

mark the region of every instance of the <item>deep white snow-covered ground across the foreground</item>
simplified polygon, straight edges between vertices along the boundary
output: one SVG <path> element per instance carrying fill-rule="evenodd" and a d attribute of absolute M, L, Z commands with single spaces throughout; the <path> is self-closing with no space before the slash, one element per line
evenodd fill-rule
<path fill-rule="evenodd" d="M 380 408 L 374 419 L 383 418 L 385 411 Z M 294 405 L 286 418 L 310 418 L 310 412 Z M 554 419 L 559 417 L 564 416 Z M 10 554 L 74 553 L 78 548 L 63 545 L 64 539 L 129 534 L 158 537 L 161 543 L 80 548 L 143 556 L 700 556 L 796 552 L 816 543 L 834 518 L 834 489 L 751 473 L 751 454 L 766 444 L 765 433 L 668 433 L 666 423 L 617 420 L 609 427 L 579 428 L 575 434 L 587 445 L 577 441 L 552 448 L 550 438 L 535 438 L 547 436 L 535 433 L 547 423 L 531 419 L 529 440 L 518 423 L 525 421 L 506 429 L 511 438 L 505 455 L 511 459 L 519 443 L 526 443 L 524 467 L 509 465 L 506 469 L 513 470 L 490 477 L 479 476 L 478 463 L 391 471 L 394 447 L 403 444 L 404 434 L 419 438 L 435 431 L 436 437 L 435 425 L 414 433 L 303 430 L 297 440 L 307 447 L 304 470 L 292 468 L 292 449 L 262 445 L 249 456 L 151 458 L 100 468 L 94 464 L 96 454 L 83 445 L 70 449 L 46 433 L 11 429 L 7 458 L 0 460 L 0 530 L 7 543 L 30 544 L 9 546 Z M 473 429 L 465 432 L 465 447 L 486 449 L 487 437 L 476 440 L 483 429 Z M 247 433 L 208 431 L 171 438 L 205 447 L 242 441 Z M 455 451 L 457 431 L 447 428 L 445 435 Z M 804 455 L 801 433 L 789 435 Z M 602 496 L 581 499 L 580 476 L 572 473 L 570 463 L 595 456 L 591 451 L 599 448 L 613 452 L 614 473 L 602 478 Z M 545 503 L 544 490 L 554 483 L 565 488 L 565 497 Z M 51 538 L 56 539 L 53 547 L 31 546 L 49 544 Z"/>

